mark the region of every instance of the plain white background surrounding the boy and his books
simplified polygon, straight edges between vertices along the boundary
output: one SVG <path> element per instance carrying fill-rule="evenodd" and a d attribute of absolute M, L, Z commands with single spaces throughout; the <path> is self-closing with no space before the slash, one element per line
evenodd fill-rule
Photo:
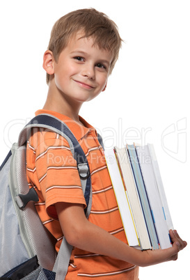
<path fill-rule="evenodd" d="M 106 148 L 132 140 L 154 143 L 173 224 L 189 241 L 190 6 L 159 1 L 1 1 L 0 160 L 47 95 L 42 55 L 52 26 L 77 8 L 111 17 L 125 43 L 106 91 L 81 116 Z M 177 262 L 141 268 L 141 280 L 188 279 L 189 247 Z"/>

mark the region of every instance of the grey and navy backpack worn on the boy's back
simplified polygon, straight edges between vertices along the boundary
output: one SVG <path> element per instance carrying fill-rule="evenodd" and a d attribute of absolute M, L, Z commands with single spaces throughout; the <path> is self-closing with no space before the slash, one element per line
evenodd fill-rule
<path fill-rule="evenodd" d="M 86 199 L 86 217 L 88 218 L 90 214 L 92 203 L 90 170 L 79 142 L 68 126 L 58 118 L 49 114 L 35 116 L 20 132 L 18 142 L 13 144 L 0 167 L 0 277 L 34 256 L 38 257 L 38 262 L 43 268 L 61 270 L 59 273 L 63 277 L 63 273 L 64 275 L 67 273 L 72 252 L 72 246 L 63 238 L 63 245 L 61 244 L 63 248 L 60 249 L 62 253 L 58 254 L 61 257 L 56 258 L 54 249 L 56 240 L 42 225 L 35 210 L 34 202 L 38 201 L 38 195 L 33 187 L 29 189 L 26 180 L 26 142 L 33 127 L 52 130 L 68 140 L 72 155 L 77 161 Z M 101 142 L 100 136 L 99 140 Z"/>

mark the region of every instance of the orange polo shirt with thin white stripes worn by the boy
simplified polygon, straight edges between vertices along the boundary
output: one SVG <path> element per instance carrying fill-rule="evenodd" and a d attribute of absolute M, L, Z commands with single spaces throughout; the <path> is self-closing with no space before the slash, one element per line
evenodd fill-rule
<path fill-rule="evenodd" d="M 90 167 L 93 201 L 88 219 L 127 243 L 104 153 L 95 129 L 81 117 L 83 125 L 53 111 L 39 110 L 36 114 L 51 114 L 68 125 L 84 150 Z M 35 208 L 42 223 L 56 238 L 58 251 L 63 233 L 55 203 L 81 203 L 84 207 L 86 205 L 77 162 L 72 157 L 68 141 L 49 130 L 33 129 L 27 143 L 26 174 L 29 185 L 35 187 L 39 196 Z M 122 260 L 74 248 L 65 279 L 87 280 L 96 277 L 102 280 L 138 280 L 138 267 Z"/>

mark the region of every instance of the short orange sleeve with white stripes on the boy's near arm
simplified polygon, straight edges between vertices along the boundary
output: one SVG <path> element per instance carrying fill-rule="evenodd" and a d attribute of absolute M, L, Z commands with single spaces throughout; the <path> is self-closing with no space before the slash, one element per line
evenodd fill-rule
<path fill-rule="evenodd" d="M 47 214 L 58 219 L 55 203 L 79 203 L 86 207 L 77 162 L 68 141 L 53 132 L 44 132 L 36 149 L 35 168 Z"/>

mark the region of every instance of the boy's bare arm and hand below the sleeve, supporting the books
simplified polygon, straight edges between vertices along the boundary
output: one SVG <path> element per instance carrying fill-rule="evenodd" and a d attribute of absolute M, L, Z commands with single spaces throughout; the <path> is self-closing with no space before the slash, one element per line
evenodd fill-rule
<path fill-rule="evenodd" d="M 176 231 L 170 231 L 173 247 L 155 251 L 141 251 L 129 247 L 104 229 L 90 223 L 79 204 L 56 203 L 56 211 L 63 234 L 74 247 L 124 260 L 138 266 L 155 265 L 168 260 L 177 260 L 177 253 L 187 246 Z"/>

